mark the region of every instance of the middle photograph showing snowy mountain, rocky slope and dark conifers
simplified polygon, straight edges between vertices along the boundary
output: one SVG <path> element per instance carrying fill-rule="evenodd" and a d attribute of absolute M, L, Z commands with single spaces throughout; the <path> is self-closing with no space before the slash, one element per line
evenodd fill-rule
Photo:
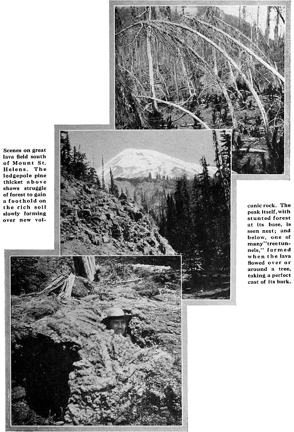
<path fill-rule="evenodd" d="M 61 131 L 60 254 L 182 255 L 183 298 L 230 298 L 230 153 L 227 130 Z"/>

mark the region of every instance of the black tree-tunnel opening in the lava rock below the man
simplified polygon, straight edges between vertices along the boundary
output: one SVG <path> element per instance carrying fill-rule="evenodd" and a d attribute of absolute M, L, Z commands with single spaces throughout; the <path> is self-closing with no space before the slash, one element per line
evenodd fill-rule
<path fill-rule="evenodd" d="M 44 418 L 62 419 L 70 397 L 69 374 L 80 359 L 73 342 L 55 343 L 39 335 L 21 341 L 12 355 L 11 373 L 26 390 L 28 406 Z"/>

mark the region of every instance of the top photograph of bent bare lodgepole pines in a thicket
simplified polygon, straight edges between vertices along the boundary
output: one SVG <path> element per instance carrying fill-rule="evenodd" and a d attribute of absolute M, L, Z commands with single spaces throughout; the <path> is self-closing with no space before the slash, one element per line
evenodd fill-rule
<path fill-rule="evenodd" d="M 284 6 L 115 7 L 116 129 L 232 129 L 232 169 L 284 172 Z"/>

